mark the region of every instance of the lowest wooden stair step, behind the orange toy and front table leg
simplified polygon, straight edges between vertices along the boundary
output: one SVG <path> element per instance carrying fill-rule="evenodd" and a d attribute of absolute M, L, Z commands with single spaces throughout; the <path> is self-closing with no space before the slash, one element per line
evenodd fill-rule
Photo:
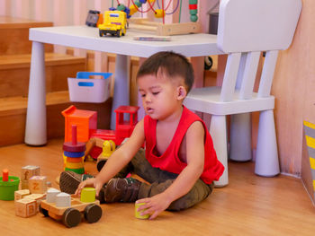
<path fill-rule="evenodd" d="M 27 98 L 11 97 L 0 99 L 0 146 L 23 144 L 25 135 Z M 49 92 L 46 95 L 48 138 L 63 137 L 65 119 L 61 111 L 70 105 L 77 109 L 97 111 L 98 128 L 110 127 L 112 99 L 103 103 L 74 103 L 69 101 L 67 91 Z"/>

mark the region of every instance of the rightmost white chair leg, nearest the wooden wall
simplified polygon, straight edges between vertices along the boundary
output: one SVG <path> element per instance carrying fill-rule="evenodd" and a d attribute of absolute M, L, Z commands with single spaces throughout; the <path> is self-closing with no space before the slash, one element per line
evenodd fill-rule
<path fill-rule="evenodd" d="M 261 111 L 259 115 L 255 173 L 266 177 L 280 173 L 273 109 Z"/>

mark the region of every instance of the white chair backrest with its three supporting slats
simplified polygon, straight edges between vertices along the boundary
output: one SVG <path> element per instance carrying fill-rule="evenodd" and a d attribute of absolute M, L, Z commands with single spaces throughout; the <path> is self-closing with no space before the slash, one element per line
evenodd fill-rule
<path fill-rule="evenodd" d="M 262 51 L 266 59 L 258 97 L 270 95 L 278 50 L 289 48 L 301 0 L 221 0 L 218 47 L 229 54 L 220 101 L 251 99 Z"/>

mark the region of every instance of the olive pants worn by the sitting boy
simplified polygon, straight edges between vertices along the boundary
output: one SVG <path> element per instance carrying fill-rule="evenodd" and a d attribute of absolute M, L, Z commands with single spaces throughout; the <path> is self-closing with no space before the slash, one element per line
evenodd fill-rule
<path fill-rule="evenodd" d="M 153 197 L 164 192 L 178 176 L 175 173 L 152 167 L 145 157 L 145 150 L 142 148 L 133 157 L 130 164 L 121 170 L 116 177 L 124 178 L 131 171 L 149 183 L 141 183 L 138 199 Z M 207 185 L 202 179 L 198 179 L 193 188 L 183 197 L 176 199 L 167 210 L 180 211 L 196 205 L 211 194 L 213 186 L 213 183 Z"/>

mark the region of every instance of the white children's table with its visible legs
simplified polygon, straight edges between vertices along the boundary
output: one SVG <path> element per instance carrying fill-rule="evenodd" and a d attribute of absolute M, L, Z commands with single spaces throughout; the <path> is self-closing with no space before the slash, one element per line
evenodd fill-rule
<path fill-rule="evenodd" d="M 112 110 L 119 105 L 129 105 L 129 56 L 149 57 L 154 53 L 172 50 L 185 57 L 202 57 L 224 54 L 217 47 L 216 35 L 189 34 L 172 36 L 171 41 L 137 41 L 133 36 L 150 35 L 143 31 L 127 31 L 126 36 L 99 37 L 98 29 L 87 26 L 60 26 L 31 28 L 31 72 L 26 117 L 25 143 L 47 143 L 46 124 L 46 78 L 44 43 L 72 48 L 117 54 Z M 114 116 L 114 112 L 112 112 Z M 112 117 L 112 121 L 115 118 Z M 112 123 L 113 124 L 113 123 Z M 111 128 L 113 129 L 114 127 Z"/>

